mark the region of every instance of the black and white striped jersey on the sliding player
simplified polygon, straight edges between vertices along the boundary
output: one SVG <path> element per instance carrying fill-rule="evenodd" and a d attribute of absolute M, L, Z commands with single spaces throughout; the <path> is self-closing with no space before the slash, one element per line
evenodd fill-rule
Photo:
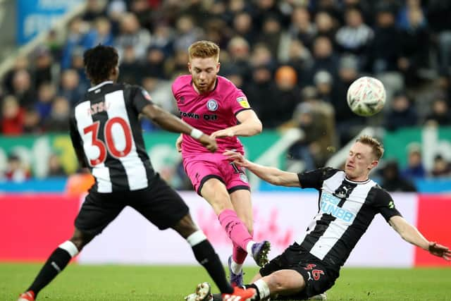
<path fill-rule="evenodd" d="M 337 271 L 376 214 L 386 221 L 401 215 L 388 192 L 373 180 L 348 180 L 345 172 L 319 168 L 299 173 L 302 188 L 319 190 L 319 210 L 297 244 Z"/>

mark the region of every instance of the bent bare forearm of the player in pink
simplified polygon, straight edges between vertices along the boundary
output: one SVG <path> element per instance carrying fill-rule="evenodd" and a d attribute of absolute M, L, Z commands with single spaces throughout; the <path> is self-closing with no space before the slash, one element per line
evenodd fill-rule
<path fill-rule="evenodd" d="M 237 120 L 240 124 L 233 125 L 230 128 L 216 130 L 211 133 L 211 137 L 234 137 L 234 136 L 253 136 L 261 133 L 263 125 L 257 114 L 252 110 L 241 111 L 237 114 Z"/>

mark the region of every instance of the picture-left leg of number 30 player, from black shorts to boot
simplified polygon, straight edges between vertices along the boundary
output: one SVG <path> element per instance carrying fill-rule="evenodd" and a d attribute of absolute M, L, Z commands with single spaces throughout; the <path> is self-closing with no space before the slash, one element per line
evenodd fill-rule
<path fill-rule="evenodd" d="M 108 200 L 108 202 L 105 202 Z M 89 193 L 75 219 L 75 231 L 70 240 L 66 240 L 51 253 L 47 262 L 37 274 L 35 281 L 20 295 L 19 301 L 35 300 L 42 288 L 66 268 L 76 254 L 88 242 L 100 233 L 113 219 L 118 216 L 123 205 L 118 204 L 110 194 Z"/>

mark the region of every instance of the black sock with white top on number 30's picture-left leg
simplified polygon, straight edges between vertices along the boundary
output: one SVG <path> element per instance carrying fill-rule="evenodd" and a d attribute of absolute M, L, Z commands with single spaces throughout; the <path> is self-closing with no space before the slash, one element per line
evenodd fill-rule
<path fill-rule="evenodd" d="M 67 243 L 68 242 L 64 242 L 63 245 Z M 75 254 L 71 255 L 70 251 L 61 248 L 63 245 L 60 245 L 56 248 L 56 250 L 54 250 L 53 253 L 51 253 L 49 259 L 47 259 L 47 262 L 44 264 L 44 266 L 42 266 L 39 274 L 37 274 L 35 281 L 33 281 L 30 288 L 27 289 L 32 290 L 33 293 L 35 293 L 35 296 L 39 293 L 40 290 L 42 290 L 42 288 L 44 288 L 47 284 L 54 280 L 56 275 L 58 275 L 59 272 L 63 271 L 63 269 L 70 262 L 70 259 L 75 256 Z M 73 247 L 75 247 L 75 245 L 73 245 Z M 71 248 L 73 249 L 73 247 Z"/>

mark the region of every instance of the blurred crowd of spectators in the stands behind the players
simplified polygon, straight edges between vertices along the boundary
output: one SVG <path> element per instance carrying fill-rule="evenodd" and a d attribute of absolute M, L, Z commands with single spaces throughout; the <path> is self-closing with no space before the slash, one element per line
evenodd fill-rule
<path fill-rule="evenodd" d="M 304 130 L 290 159 L 323 166 L 330 146 L 366 125 L 451 125 L 450 16 L 451 0 L 88 0 L 64 35 L 51 31 L 16 59 L 1 82 L 0 130 L 67 132 L 70 108 L 89 87 L 83 51 L 99 43 L 117 47 L 120 81 L 177 114 L 171 82 L 187 73 L 187 47 L 209 39 L 221 47 L 220 74 L 247 94 L 264 129 Z M 362 75 L 387 90 L 373 118 L 345 101 Z"/>

